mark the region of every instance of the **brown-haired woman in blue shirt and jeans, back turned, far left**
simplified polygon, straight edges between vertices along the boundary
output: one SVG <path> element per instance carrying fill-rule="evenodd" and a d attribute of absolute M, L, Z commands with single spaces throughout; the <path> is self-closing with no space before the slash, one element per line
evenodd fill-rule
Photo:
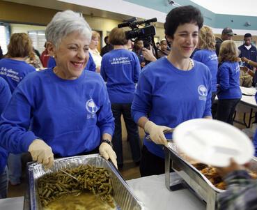
<path fill-rule="evenodd" d="M 26 57 L 33 52 L 31 38 L 26 33 L 13 33 L 10 37 L 6 57 L 0 60 L 0 77 L 8 83 L 11 93 L 17 85 L 36 69 L 25 62 Z M 10 153 L 8 157 L 10 184 L 15 186 L 21 183 L 22 153 Z"/>

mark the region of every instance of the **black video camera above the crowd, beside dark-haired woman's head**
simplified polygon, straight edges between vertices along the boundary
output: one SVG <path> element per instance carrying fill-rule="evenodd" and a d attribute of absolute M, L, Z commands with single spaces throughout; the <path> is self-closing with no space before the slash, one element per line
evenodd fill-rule
<path fill-rule="evenodd" d="M 118 28 L 130 27 L 131 31 L 125 31 L 127 39 L 135 39 L 143 40 L 143 46 L 149 47 L 150 43 L 154 43 L 155 36 L 155 27 L 150 25 L 151 22 L 157 22 L 157 18 L 152 18 L 149 20 L 143 20 L 136 22 L 137 18 L 132 17 L 130 20 L 125 20 L 122 24 L 118 24 Z M 140 26 L 142 26 L 139 28 Z"/>

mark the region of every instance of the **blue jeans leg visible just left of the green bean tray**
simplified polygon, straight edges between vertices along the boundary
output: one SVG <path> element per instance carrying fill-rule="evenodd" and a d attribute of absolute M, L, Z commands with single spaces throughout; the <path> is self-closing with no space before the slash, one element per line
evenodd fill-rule
<path fill-rule="evenodd" d="M 13 185 L 21 183 L 22 178 L 22 153 L 8 156 L 9 180 Z"/>

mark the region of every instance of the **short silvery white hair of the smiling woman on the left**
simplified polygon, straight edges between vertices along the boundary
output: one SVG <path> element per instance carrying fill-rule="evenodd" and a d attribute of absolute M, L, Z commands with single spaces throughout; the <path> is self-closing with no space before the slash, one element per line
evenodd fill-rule
<path fill-rule="evenodd" d="M 83 15 L 72 10 L 65 10 L 56 13 L 51 22 L 47 24 L 45 38 L 47 42 L 59 47 L 61 39 L 75 31 L 79 31 L 79 33 L 91 40 L 92 31 Z"/>

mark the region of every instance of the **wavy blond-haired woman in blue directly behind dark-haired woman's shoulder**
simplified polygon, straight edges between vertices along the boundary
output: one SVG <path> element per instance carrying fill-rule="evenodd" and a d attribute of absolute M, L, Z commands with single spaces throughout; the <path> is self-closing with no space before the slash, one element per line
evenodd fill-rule
<path fill-rule="evenodd" d="M 210 69 L 212 74 L 212 105 L 217 94 L 217 70 L 218 58 L 215 52 L 215 36 L 212 29 L 203 26 L 199 31 L 198 51 L 194 53 L 193 59 L 199 61 Z M 213 113 L 213 112 L 212 112 Z M 213 116 L 213 114 L 212 114 Z"/>

